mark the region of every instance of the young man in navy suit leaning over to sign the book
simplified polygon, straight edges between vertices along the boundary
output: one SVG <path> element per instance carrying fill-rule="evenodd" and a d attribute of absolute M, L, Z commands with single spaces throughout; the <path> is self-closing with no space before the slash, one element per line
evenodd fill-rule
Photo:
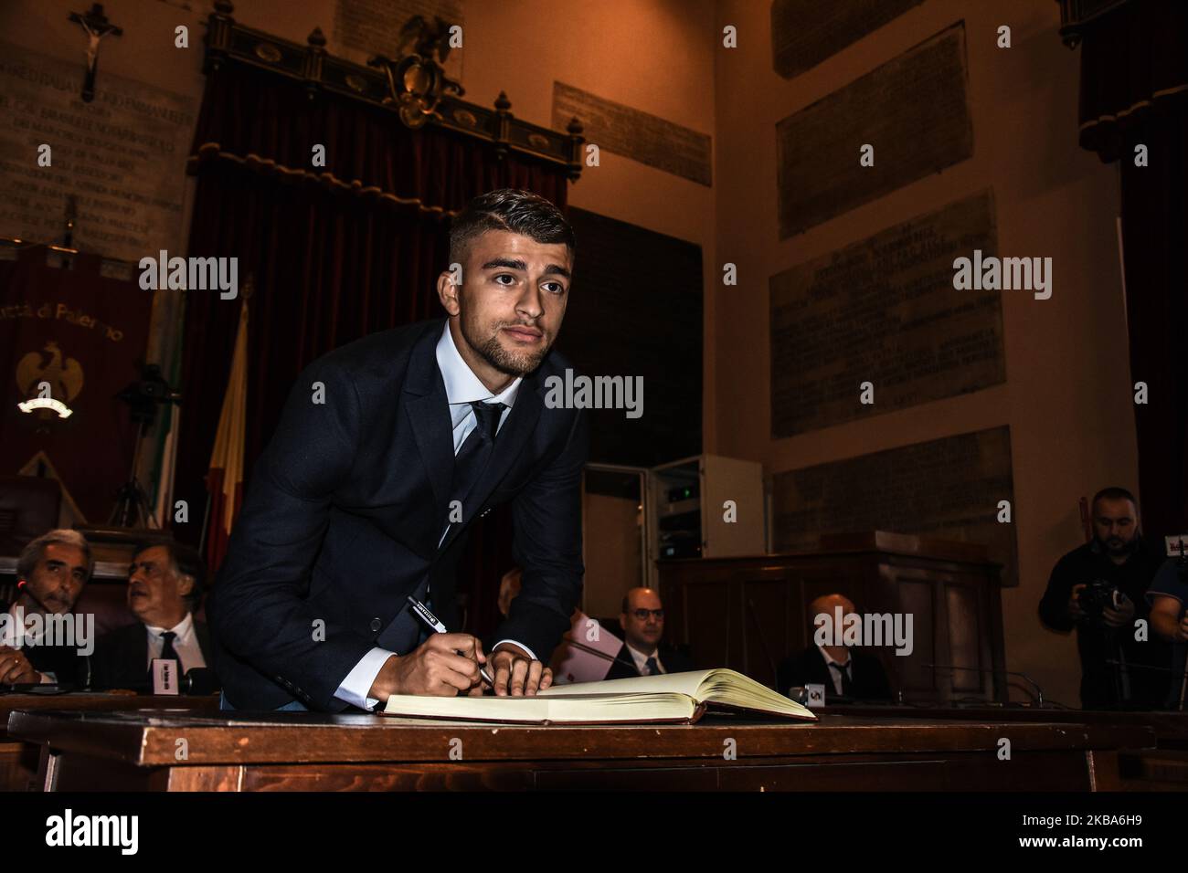
<path fill-rule="evenodd" d="M 448 317 L 366 336 L 297 379 L 257 462 L 208 614 L 229 708 L 371 709 L 392 694 L 548 688 L 581 590 L 581 410 L 546 405 L 568 361 L 574 235 L 526 191 L 475 198 L 450 229 Z M 523 592 L 491 656 L 455 628 L 470 523 L 512 504 Z"/>

